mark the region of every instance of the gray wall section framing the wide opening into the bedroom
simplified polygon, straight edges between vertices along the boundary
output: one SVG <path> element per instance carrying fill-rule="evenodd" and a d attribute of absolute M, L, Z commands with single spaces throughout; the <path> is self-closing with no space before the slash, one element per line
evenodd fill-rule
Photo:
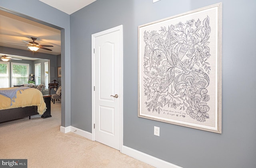
<path fill-rule="evenodd" d="M 1 0 L 0 7 L 2 10 L 61 30 L 61 125 L 70 126 L 70 16 L 38 0 Z"/>

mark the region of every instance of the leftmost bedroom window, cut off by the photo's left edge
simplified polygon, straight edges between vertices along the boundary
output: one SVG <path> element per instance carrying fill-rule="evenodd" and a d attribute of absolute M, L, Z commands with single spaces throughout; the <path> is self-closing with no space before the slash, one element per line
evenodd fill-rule
<path fill-rule="evenodd" d="M 10 63 L 0 62 L 0 88 L 8 88 L 9 86 L 9 66 Z"/>

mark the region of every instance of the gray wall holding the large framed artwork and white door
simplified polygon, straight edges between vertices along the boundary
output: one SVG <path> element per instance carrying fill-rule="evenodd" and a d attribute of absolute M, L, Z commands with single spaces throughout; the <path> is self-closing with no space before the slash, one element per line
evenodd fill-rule
<path fill-rule="evenodd" d="M 91 35 L 122 24 L 124 145 L 184 168 L 256 167 L 255 0 L 222 0 L 222 134 L 137 117 L 138 26 L 218 2 L 97 0 L 72 14 L 71 124 L 92 132 Z"/>

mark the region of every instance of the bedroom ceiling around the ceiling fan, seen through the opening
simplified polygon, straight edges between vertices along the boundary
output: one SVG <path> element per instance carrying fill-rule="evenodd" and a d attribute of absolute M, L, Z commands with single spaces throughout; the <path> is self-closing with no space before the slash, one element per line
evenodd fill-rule
<path fill-rule="evenodd" d="M 26 43 L 22 40 L 30 42 L 32 41 L 30 37 L 35 37 L 37 38 L 36 42 L 40 45 L 54 46 L 46 47 L 52 49 L 52 51 L 39 49 L 37 52 L 52 55 L 59 55 L 61 53 L 60 30 L 1 10 L 0 20 L 0 46 L 29 50 Z"/>

